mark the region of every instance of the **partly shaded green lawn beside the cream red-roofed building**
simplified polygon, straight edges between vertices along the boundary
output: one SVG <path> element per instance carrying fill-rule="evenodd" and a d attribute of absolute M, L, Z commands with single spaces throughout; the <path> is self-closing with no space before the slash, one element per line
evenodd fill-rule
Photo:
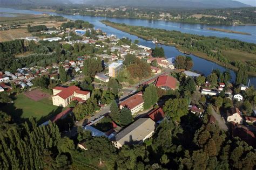
<path fill-rule="evenodd" d="M 29 117 L 35 117 L 38 124 L 41 124 L 52 116 L 59 114 L 63 108 L 52 105 L 51 97 L 36 102 L 20 94 L 16 97 L 14 103 L 5 105 L 2 110 L 12 115 L 16 123 L 22 123 Z"/>

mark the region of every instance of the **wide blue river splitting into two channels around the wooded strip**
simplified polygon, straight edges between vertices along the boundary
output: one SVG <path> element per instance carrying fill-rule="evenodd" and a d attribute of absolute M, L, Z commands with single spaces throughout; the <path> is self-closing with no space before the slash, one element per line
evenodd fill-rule
<path fill-rule="evenodd" d="M 19 9 L 9 9 L 9 8 L 0 8 L 0 12 L 3 13 L 29 13 L 39 15 L 45 12 L 41 11 L 31 11 L 31 10 L 19 10 Z M 46 12 L 52 15 L 63 16 L 68 19 L 76 20 L 86 20 L 87 22 L 92 23 L 95 25 L 96 29 L 101 29 L 102 31 L 106 32 L 107 34 L 116 34 L 119 38 L 127 37 L 132 40 L 139 39 L 140 45 L 144 45 L 147 47 L 154 48 L 156 45 L 153 44 L 151 41 L 146 41 L 143 39 L 138 38 L 137 36 L 132 36 L 128 33 L 113 29 L 112 27 L 106 26 L 105 24 L 100 23 L 100 20 L 108 19 L 112 22 L 117 23 L 125 23 L 128 25 L 139 25 L 139 26 L 148 26 L 154 27 L 159 29 L 166 29 L 166 30 L 177 30 L 180 32 L 191 33 L 191 34 L 198 34 L 203 36 L 216 36 L 216 37 L 228 37 L 232 39 L 238 39 L 241 41 L 252 42 L 256 44 L 256 26 L 251 25 L 241 25 L 241 26 L 225 26 L 225 25 L 202 25 L 202 24 L 186 24 L 186 23 L 176 23 L 176 22 L 165 22 L 161 20 L 144 20 L 144 19 L 127 19 L 127 18 L 107 18 L 107 17 L 90 17 L 90 16 L 80 16 L 80 15 L 64 15 L 52 12 Z M 10 16 L 11 17 L 11 16 Z M 233 30 L 233 31 L 240 31 L 240 32 L 247 32 L 252 34 L 251 36 L 242 35 L 242 34 L 233 34 L 233 33 L 225 33 L 225 32 L 218 32 L 218 31 L 211 31 L 206 29 L 201 29 L 201 27 L 214 27 L 226 30 Z M 179 52 L 175 47 L 164 46 L 160 45 L 165 49 L 165 55 L 167 58 L 176 57 L 178 55 L 184 55 L 183 53 Z M 194 61 L 193 70 L 196 70 L 200 73 L 203 73 L 205 76 L 211 74 L 212 69 L 219 69 L 221 72 L 225 71 L 226 68 L 221 67 L 211 61 L 207 61 L 197 56 L 190 55 Z M 230 70 L 232 75 L 232 81 L 235 80 L 235 73 Z M 256 77 L 250 77 L 251 84 L 256 87 Z"/>

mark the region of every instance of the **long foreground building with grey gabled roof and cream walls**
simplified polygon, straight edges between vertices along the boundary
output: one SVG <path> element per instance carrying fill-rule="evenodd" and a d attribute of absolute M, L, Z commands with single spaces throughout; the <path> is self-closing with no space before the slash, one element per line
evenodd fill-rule
<path fill-rule="evenodd" d="M 152 121 L 151 118 L 139 118 L 117 133 L 111 140 L 117 148 L 123 145 L 141 144 L 152 136 L 156 126 L 156 122 Z"/>

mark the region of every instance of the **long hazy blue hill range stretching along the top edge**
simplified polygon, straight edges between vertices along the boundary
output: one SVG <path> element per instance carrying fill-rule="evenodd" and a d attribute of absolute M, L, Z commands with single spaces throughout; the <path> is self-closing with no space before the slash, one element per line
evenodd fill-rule
<path fill-rule="evenodd" d="M 232 0 L 0 0 L 0 5 L 79 3 L 160 8 L 240 8 L 250 5 Z"/>

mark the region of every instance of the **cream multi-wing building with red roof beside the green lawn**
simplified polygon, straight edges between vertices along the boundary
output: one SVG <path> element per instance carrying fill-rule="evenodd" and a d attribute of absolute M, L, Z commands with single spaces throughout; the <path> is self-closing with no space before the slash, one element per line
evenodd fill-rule
<path fill-rule="evenodd" d="M 85 102 L 90 98 L 90 91 L 83 91 L 76 86 L 55 87 L 53 90 L 52 103 L 60 107 L 67 107 L 70 102 L 77 100 Z"/>

